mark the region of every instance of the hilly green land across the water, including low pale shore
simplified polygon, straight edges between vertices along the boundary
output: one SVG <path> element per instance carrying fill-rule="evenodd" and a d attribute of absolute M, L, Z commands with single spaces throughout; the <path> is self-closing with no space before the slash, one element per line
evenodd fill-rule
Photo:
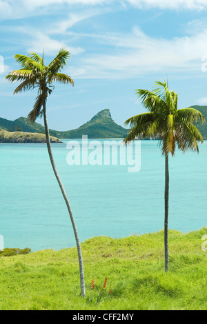
<path fill-rule="evenodd" d="M 207 106 L 193 105 L 191 107 L 199 110 L 207 121 Z M 207 123 L 197 127 L 204 139 L 207 139 Z M 2 141 L 7 141 L 4 143 L 46 143 L 43 125 L 30 123 L 25 117 L 20 117 L 14 121 L 0 118 L 0 129 L 1 143 Z M 10 134 L 3 135 L 2 130 L 6 130 Z M 37 136 L 38 134 L 39 136 Z M 90 121 L 75 130 L 65 132 L 50 130 L 52 143 L 61 143 L 58 139 L 81 139 L 83 135 L 88 135 L 88 139 L 124 139 L 127 134 L 128 130 L 112 119 L 109 109 L 101 110 Z M 15 136 L 17 136 L 17 139 L 15 139 Z"/>

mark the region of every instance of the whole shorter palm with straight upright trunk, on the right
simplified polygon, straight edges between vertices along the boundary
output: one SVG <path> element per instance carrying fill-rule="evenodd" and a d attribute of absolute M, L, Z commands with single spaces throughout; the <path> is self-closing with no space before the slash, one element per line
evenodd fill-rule
<path fill-rule="evenodd" d="M 124 142 L 135 139 L 159 139 L 162 155 L 165 156 L 165 219 L 164 246 L 165 271 L 168 271 L 168 201 L 169 201 L 169 166 L 168 156 L 175 155 L 175 147 L 185 152 L 193 150 L 199 152 L 198 143 L 203 143 L 203 137 L 195 122 L 204 123 L 204 116 L 193 108 L 177 109 L 177 94 L 168 90 L 168 84 L 157 81 L 152 91 L 136 90 L 141 102 L 148 112 L 131 117 L 125 122 L 130 131 Z"/>

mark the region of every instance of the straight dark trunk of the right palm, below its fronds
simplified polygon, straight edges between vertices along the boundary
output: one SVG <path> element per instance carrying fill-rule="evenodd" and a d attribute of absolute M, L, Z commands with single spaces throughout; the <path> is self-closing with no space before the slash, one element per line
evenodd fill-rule
<path fill-rule="evenodd" d="M 165 271 L 169 267 L 169 252 L 168 252 L 168 209 L 169 209 L 169 165 L 168 154 L 166 154 L 165 165 L 165 227 L 164 227 L 164 245 L 165 245 Z"/>

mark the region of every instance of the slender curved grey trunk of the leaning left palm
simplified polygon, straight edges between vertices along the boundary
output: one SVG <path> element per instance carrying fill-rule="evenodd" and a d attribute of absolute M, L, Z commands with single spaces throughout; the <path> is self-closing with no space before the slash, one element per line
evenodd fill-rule
<path fill-rule="evenodd" d="M 79 270 L 80 270 L 80 280 L 81 280 L 81 296 L 85 297 L 86 296 L 86 290 L 85 290 L 85 281 L 84 281 L 84 272 L 83 272 L 83 258 L 82 258 L 82 252 L 81 252 L 81 245 L 79 242 L 79 236 L 78 236 L 78 232 L 77 232 L 77 227 L 75 225 L 75 219 L 74 216 L 72 214 L 72 210 L 70 207 L 70 203 L 68 201 L 68 197 L 66 195 L 66 191 L 63 188 L 63 183 L 61 182 L 61 179 L 59 177 L 59 174 L 57 172 L 57 168 L 55 165 L 55 160 L 53 158 L 52 155 L 52 149 L 51 149 L 51 145 L 50 145 L 50 134 L 49 134 L 49 129 L 48 129 L 48 121 L 47 121 L 47 115 L 46 115 L 46 103 L 43 103 L 43 117 L 44 117 L 44 124 L 45 124 L 45 131 L 46 131 L 46 141 L 47 141 L 47 146 L 48 146 L 48 153 L 50 156 L 50 162 L 52 164 L 52 169 L 55 173 L 57 182 L 59 183 L 59 187 L 61 189 L 61 192 L 63 194 L 63 198 L 66 201 L 66 205 L 68 207 L 68 212 L 70 214 L 70 220 L 72 222 L 72 227 L 74 230 L 74 234 L 75 234 L 75 240 L 77 243 L 77 252 L 78 252 L 78 256 L 79 256 Z"/>

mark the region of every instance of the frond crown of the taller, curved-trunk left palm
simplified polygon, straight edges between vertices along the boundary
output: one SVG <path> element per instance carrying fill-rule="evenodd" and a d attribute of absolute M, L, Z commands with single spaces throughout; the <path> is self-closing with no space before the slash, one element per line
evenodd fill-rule
<path fill-rule="evenodd" d="M 28 114 L 28 119 L 34 123 L 37 117 L 42 117 L 43 103 L 46 102 L 48 94 L 52 93 L 54 88 L 53 82 L 57 81 L 74 85 L 71 77 L 60 73 L 61 69 L 66 65 L 70 53 L 62 48 L 48 66 L 44 64 L 43 57 L 41 58 L 33 52 L 28 57 L 21 54 L 16 54 L 14 57 L 17 63 L 21 65 L 21 69 L 10 72 L 6 79 L 11 82 L 21 81 L 21 84 L 14 90 L 14 94 L 38 88 L 34 108 Z"/>

